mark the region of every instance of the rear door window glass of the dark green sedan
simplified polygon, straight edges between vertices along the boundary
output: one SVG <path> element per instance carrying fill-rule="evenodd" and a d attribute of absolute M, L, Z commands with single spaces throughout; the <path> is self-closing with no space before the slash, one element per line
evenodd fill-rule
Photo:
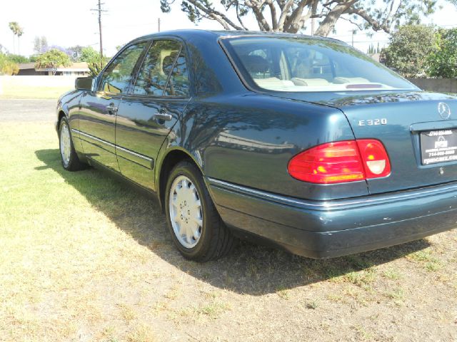
<path fill-rule="evenodd" d="M 178 41 L 154 41 L 140 68 L 135 95 L 179 95 L 189 93 L 186 58 Z"/>

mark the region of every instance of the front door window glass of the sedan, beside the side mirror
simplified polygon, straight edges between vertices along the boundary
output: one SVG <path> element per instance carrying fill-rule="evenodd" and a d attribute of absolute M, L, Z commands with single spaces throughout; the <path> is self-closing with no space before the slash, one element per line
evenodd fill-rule
<path fill-rule="evenodd" d="M 134 76 L 136 61 L 146 45 L 146 42 L 142 42 L 122 51 L 103 73 L 99 90 L 114 94 L 126 93 L 129 90 L 131 78 Z"/>

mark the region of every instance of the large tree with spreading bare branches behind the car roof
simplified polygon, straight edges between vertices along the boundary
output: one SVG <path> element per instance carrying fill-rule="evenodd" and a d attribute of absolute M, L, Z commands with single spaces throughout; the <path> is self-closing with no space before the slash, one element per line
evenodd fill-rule
<path fill-rule="evenodd" d="M 175 0 L 160 0 L 161 10 L 171 11 Z M 403 22 L 417 21 L 432 14 L 437 0 L 219 0 L 219 11 L 211 0 L 181 0 L 181 10 L 189 20 L 199 23 L 202 19 L 219 22 L 226 30 L 247 30 L 243 17 L 253 15 L 261 31 L 297 33 L 317 19 L 317 36 L 328 36 L 338 19 L 346 19 L 359 29 L 390 33 Z M 382 5 L 381 5 L 382 4 Z M 266 13 L 268 12 L 268 13 Z M 233 18 L 230 18 L 232 15 Z M 234 19 L 236 18 L 236 19 Z"/>

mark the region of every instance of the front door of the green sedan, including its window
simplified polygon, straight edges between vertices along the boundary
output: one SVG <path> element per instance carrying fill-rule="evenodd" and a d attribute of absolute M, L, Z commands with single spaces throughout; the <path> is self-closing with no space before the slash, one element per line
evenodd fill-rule
<path fill-rule="evenodd" d="M 81 98 L 79 136 L 84 154 L 111 170 L 119 171 L 115 149 L 116 113 L 122 95 L 129 91 L 134 68 L 147 42 L 124 48 L 101 74 L 94 91 Z"/>

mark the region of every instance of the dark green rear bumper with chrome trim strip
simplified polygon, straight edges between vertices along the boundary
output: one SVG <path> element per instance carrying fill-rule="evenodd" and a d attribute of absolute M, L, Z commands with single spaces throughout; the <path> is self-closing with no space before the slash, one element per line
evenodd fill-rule
<path fill-rule="evenodd" d="M 305 257 L 366 252 L 421 239 L 457 224 L 457 183 L 308 201 L 211 178 L 206 182 L 227 225 Z"/>

